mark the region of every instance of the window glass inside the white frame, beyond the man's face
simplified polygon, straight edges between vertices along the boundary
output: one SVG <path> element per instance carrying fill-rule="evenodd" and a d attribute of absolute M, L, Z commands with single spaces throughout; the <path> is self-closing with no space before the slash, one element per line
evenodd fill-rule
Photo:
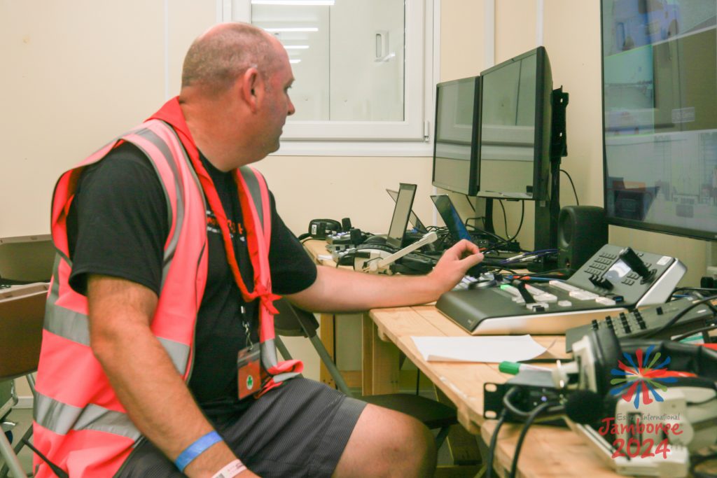
<path fill-rule="evenodd" d="M 404 120 L 403 0 L 253 4 L 252 23 L 289 54 L 296 77 L 290 122 Z"/>

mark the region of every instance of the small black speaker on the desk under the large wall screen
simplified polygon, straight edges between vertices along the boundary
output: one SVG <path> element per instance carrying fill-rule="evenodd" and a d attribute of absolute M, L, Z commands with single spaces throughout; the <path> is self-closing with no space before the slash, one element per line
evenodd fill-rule
<path fill-rule="evenodd" d="M 605 210 L 598 206 L 565 206 L 558 216 L 558 267 L 579 269 L 607 244 Z"/>

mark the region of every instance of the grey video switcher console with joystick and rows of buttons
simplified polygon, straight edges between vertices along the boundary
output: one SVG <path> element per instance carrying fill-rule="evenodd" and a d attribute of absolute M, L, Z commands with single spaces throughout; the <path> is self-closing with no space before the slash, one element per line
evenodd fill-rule
<path fill-rule="evenodd" d="M 685 271 L 675 257 L 606 244 L 565 282 L 453 290 L 436 307 L 473 335 L 564 334 L 605 315 L 665 302 Z"/>

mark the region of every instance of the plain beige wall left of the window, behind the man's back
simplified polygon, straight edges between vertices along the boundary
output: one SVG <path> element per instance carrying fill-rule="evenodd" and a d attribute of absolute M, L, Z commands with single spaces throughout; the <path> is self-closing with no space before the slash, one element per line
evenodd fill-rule
<path fill-rule="evenodd" d="M 212 1 L 169 3 L 166 77 L 163 1 L 0 1 L 0 236 L 49 232 L 57 176 L 156 110 L 166 81 L 176 94 L 216 14 Z"/>

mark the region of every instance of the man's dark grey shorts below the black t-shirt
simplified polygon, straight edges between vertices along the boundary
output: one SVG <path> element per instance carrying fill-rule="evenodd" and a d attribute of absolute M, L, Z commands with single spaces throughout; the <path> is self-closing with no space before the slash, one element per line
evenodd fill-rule
<path fill-rule="evenodd" d="M 267 392 L 238 419 L 214 426 L 260 477 L 331 477 L 364 406 L 323 383 L 293 378 Z M 184 474 L 153 444 L 143 441 L 117 476 Z"/>

